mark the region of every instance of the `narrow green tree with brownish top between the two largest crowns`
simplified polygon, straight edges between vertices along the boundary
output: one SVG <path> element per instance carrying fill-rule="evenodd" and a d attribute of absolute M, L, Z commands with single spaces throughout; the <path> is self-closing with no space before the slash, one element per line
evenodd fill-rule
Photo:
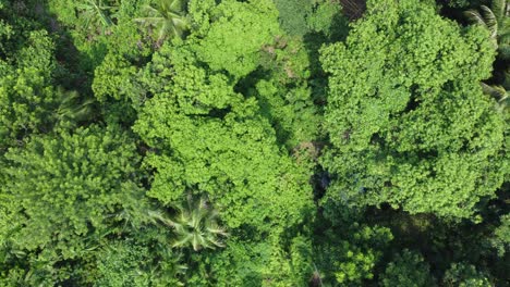
<path fill-rule="evenodd" d="M 280 37 L 264 47 L 268 79 L 255 84 L 262 113 L 275 126 L 277 138 L 288 149 L 311 147 L 319 132 L 319 116 L 313 103 L 309 61 L 300 41 Z"/>

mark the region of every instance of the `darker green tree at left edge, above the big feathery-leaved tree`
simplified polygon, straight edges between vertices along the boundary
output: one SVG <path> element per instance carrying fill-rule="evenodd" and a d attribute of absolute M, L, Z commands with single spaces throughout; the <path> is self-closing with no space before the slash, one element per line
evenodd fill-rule
<path fill-rule="evenodd" d="M 0 61 L 0 149 L 49 128 L 58 105 L 52 86 L 54 42 L 47 32 L 34 30 L 24 43 Z"/>

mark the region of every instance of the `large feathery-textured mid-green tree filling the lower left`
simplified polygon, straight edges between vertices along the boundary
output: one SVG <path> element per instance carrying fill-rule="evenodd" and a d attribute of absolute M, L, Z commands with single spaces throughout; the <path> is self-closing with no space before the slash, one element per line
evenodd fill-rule
<path fill-rule="evenodd" d="M 10 253 L 22 254 L 26 271 L 66 278 L 66 260 L 85 260 L 105 236 L 122 233 L 119 212 L 147 210 L 132 138 L 94 125 L 33 136 L 7 152 L 0 238 Z M 135 226 L 144 221 L 127 217 Z"/>

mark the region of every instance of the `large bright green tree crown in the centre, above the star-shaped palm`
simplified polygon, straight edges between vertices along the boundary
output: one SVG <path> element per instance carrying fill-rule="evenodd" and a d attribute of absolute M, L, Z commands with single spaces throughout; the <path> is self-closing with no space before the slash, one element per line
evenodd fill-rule
<path fill-rule="evenodd" d="M 169 205 L 187 191 L 207 195 L 229 228 L 281 230 L 303 220 L 309 172 L 277 146 L 256 99 L 199 65 L 187 46 L 163 46 L 141 75 L 151 98 L 134 130 L 153 150 L 150 197 Z"/>

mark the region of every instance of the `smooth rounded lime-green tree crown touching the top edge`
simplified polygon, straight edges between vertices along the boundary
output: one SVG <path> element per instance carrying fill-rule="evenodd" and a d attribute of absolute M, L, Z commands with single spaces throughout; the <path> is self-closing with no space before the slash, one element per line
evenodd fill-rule
<path fill-rule="evenodd" d="M 212 71 L 227 71 L 238 79 L 260 65 L 263 46 L 281 35 L 271 0 L 221 1 L 207 14 L 211 23 L 196 28 L 196 58 Z"/>

